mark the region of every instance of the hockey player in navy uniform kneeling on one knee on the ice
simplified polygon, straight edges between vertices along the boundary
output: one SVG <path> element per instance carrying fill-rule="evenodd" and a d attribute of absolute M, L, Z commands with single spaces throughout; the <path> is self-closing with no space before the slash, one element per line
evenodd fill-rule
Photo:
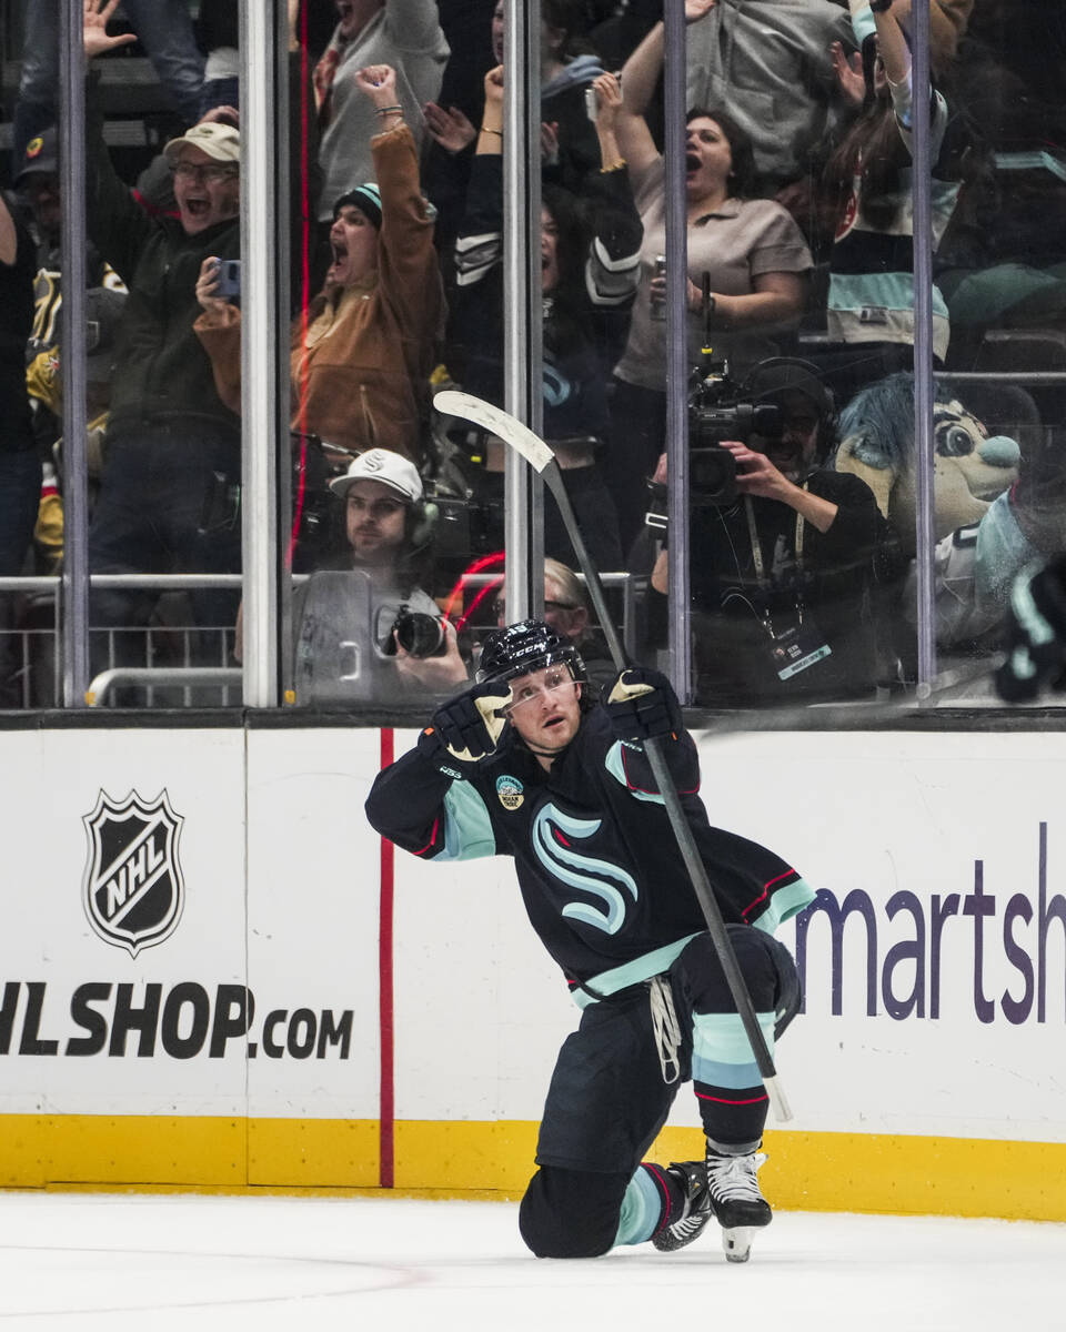
<path fill-rule="evenodd" d="M 520 1212 L 538 1256 L 690 1243 L 712 1216 L 744 1260 L 770 1221 L 757 1171 L 768 1099 L 641 742 L 664 738 L 760 1026 L 794 1015 L 773 930 L 813 892 L 773 852 L 710 827 L 669 681 L 633 667 L 593 701 L 573 645 L 540 621 L 492 634 L 477 683 L 377 778 L 370 823 L 428 860 L 514 858 L 533 928 L 581 1023 L 560 1051 Z M 641 1164 L 692 1079 L 705 1162 Z"/>

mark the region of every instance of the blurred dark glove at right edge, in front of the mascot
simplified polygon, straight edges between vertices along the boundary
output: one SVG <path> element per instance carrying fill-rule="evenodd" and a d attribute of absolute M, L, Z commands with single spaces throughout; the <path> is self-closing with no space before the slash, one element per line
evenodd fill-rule
<path fill-rule="evenodd" d="M 1014 579 L 1007 615 L 1007 657 L 995 687 L 1007 703 L 1027 703 L 1041 689 L 1066 689 L 1066 555 Z"/>

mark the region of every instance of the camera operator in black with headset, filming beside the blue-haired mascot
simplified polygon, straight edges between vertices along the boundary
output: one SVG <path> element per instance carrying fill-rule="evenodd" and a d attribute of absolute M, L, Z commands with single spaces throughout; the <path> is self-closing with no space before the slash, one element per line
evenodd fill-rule
<path fill-rule="evenodd" d="M 865 482 L 825 466 L 833 401 L 813 366 L 774 358 L 744 388 L 742 402 L 717 412 L 718 420 L 758 424 L 746 441 L 720 440 L 726 482 L 702 488 L 710 469 L 693 458 L 697 702 L 861 698 L 881 675 L 879 611 L 902 577 L 891 531 Z M 768 405 L 777 408 L 769 418 Z M 657 478 L 665 478 L 665 458 Z M 665 550 L 652 587 L 668 590 Z"/>

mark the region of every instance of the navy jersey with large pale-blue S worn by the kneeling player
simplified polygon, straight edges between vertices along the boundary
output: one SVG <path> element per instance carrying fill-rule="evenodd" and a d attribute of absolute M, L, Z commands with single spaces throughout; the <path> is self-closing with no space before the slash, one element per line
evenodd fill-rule
<path fill-rule="evenodd" d="M 513 856 L 533 928 L 578 1003 L 664 971 L 706 923 L 644 751 L 614 738 L 602 707 L 550 771 L 508 734 L 465 779 L 405 754 L 374 782 L 370 823 L 429 860 Z M 773 932 L 813 891 L 773 851 L 710 826 L 688 733 L 664 753 L 724 919 Z"/>

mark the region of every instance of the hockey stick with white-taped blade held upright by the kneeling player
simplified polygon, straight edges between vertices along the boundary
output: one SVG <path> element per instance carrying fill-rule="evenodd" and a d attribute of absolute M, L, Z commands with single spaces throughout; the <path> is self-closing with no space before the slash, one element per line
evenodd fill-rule
<path fill-rule="evenodd" d="M 604 585 L 600 581 L 600 571 L 585 547 L 585 541 L 581 535 L 581 529 L 577 525 L 577 517 L 570 503 L 570 497 L 566 494 L 566 489 L 562 484 L 562 473 L 560 472 L 556 456 L 552 453 L 549 446 L 528 426 L 522 425 L 521 421 L 517 421 L 513 416 L 510 416 L 509 412 L 504 412 L 500 408 L 493 406 L 490 402 L 485 402 L 482 398 L 476 398 L 470 393 L 460 393 L 454 389 L 445 389 L 434 396 L 433 405 L 445 416 L 461 417 L 465 421 L 472 421 L 474 425 L 480 425 L 485 430 L 489 430 L 492 434 L 502 440 L 504 444 L 510 445 L 512 449 L 520 453 L 530 468 L 533 468 L 533 470 L 544 478 L 545 485 L 556 497 L 556 503 L 558 505 L 558 510 L 562 515 L 566 533 L 577 553 L 581 571 L 585 574 L 589 597 L 592 598 L 593 609 L 600 619 L 600 627 L 606 638 L 608 649 L 610 650 L 610 657 L 614 662 L 614 669 L 617 671 L 625 670 L 632 663 L 626 655 L 625 647 L 622 646 L 622 641 L 618 637 L 618 630 L 614 627 L 614 622 L 610 618 L 610 610 L 608 609 L 606 597 L 604 595 Z M 658 786 L 660 795 L 662 797 L 666 817 L 670 821 L 670 829 L 677 839 L 677 847 L 681 851 L 681 858 L 685 862 L 685 868 L 689 872 L 693 890 L 696 891 L 697 900 L 700 902 L 700 907 L 704 912 L 708 932 L 714 943 L 718 960 L 722 964 L 729 991 L 733 995 L 733 1003 L 737 1006 L 741 1023 L 744 1024 L 748 1040 L 752 1044 L 752 1052 L 756 1056 L 760 1076 L 766 1087 L 766 1095 L 774 1108 L 774 1115 L 780 1122 L 785 1123 L 792 1119 L 792 1111 L 789 1110 L 789 1103 L 785 1099 L 785 1091 L 781 1087 L 773 1058 L 769 1047 L 766 1046 L 766 1038 L 762 1035 L 762 1028 L 758 1024 L 752 996 L 748 994 L 748 986 L 741 975 L 737 955 L 733 952 L 733 944 L 729 942 L 725 920 L 722 919 L 722 912 L 718 910 L 718 903 L 714 898 L 714 891 L 710 886 L 706 868 L 704 867 L 704 862 L 697 851 L 696 838 L 689 827 L 689 821 L 685 818 L 685 811 L 681 807 L 681 797 L 677 794 L 677 787 L 674 786 L 673 777 L 666 766 L 666 759 L 664 758 L 658 739 L 645 741 L 644 750 L 648 755 L 648 762 L 652 766 L 652 774 L 656 779 L 656 785 Z"/>

